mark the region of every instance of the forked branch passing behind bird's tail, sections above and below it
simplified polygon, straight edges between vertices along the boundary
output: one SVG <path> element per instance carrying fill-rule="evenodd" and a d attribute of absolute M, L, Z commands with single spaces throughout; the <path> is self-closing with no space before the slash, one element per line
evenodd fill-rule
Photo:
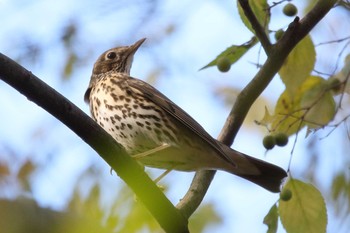
<path fill-rule="evenodd" d="M 295 20 L 289 25 L 284 36 L 274 46 L 270 46 L 268 38 L 265 38 L 266 34 L 258 23 L 255 15 L 252 13 L 248 0 L 239 0 L 239 2 L 252 27 L 257 33 L 257 37 L 265 49 L 268 58 L 252 81 L 237 96 L 236 102 L 218 137 L 218 140 L 226 145 L 232 145 L 250 107 L 265 90 L 275 74 L 280 70 L 288 54 L 330 11 L 336 3 L 336 0 L 320 0 L 300 22 L 298 17 L 295 18 Z M 215 172 L 209 171 L 196 173 L 191 187 L 177 205 L 184 216 L 191 216 L 198 208 L 214 175 Z"/>

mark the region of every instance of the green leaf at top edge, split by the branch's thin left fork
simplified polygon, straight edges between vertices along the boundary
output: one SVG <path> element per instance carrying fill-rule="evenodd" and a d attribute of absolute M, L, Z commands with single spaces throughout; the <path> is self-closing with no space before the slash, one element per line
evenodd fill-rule
<path fill-rule="evenodd" d="M 258 22 L 261 26 L 266 28 L 266 32 L 268 31 L 268 25 L 270 22 L 270 12 L 269 12 L 269 5 L 267 4 L 266 0 L 249 0 L 249 6 L 252 9 L 255 17 L 257 18 Z M 237 7 L 238 7 L 238 13 L 241 17 L 242 22 L 244 25 L 255 34 L 255 31 L 253 30 L 252 25 L 250 24 L 249 20 L 245 16 L 243 9 L 241 7 L 241 4 L 237 1 Z"/>

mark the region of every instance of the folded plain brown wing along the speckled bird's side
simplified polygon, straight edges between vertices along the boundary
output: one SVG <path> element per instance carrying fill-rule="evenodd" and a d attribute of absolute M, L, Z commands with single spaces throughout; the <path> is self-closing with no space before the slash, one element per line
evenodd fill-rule
<path fill-rule="evenodd" d="M 131 88 L 134 88 L 142 93 L 143 97 L 161 107 L 164 111 L 179 121 L 179 123 L 185 125 L 189 130 L 198 135 L 205 142 L 209 143 L 217 152 L 219 152 L 218 154 L 221 155 L 224 160 L 232 163 L 234 166 L 237 166 L 230 157 L 226 156 L 217 141 L 212 138 L 197 121 L 195 121 L 190 115 L 188 115 L 160 91 L 150 84 L 132 77 L 128 78 L 127 82 Z"/>

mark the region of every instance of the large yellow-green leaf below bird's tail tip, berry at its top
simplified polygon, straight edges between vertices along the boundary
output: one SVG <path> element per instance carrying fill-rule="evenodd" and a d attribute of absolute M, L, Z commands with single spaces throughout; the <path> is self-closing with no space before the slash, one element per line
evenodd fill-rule
<path fill-rule="evenodd" d="M 326 232 L 327 212 L 321 193 L 311 184 L 290 179 L 284 188 L 292 192 L 289 201 L 279 201 L 278 212 L 288 233 Z"/>

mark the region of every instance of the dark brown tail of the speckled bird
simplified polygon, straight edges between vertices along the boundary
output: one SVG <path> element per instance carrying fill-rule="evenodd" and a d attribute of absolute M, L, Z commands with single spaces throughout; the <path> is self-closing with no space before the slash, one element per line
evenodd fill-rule
<path fill-rule="evenodd" d="M 221 144 L 225 154 L 229 156 L 234 167 L 227 171 L 249 180 L 271 192 L 280 192 L 281 184 L 287 177 L 287 173 L 282 168 L 240 153 L 228 146 Z"/>

